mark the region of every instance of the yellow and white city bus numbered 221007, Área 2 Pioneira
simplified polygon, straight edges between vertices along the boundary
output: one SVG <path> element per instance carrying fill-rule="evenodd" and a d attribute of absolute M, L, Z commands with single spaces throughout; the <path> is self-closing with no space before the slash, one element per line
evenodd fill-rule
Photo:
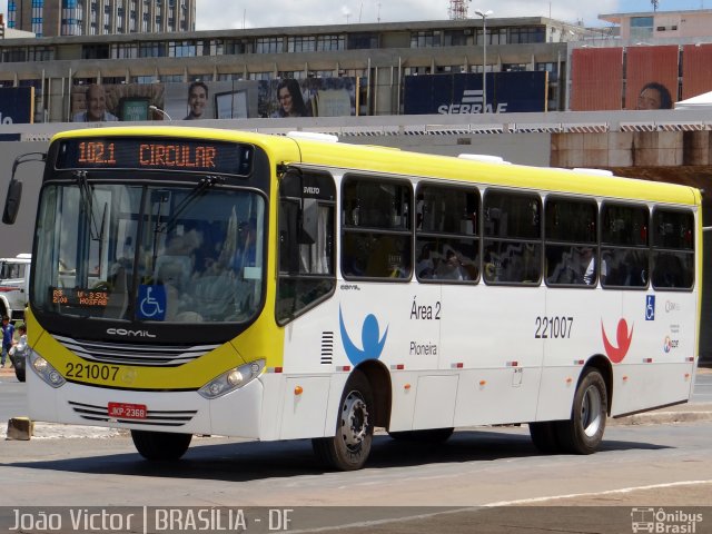
<path fill-rule="evenodd" d="M 327 137 L 55 136 L 31 417 L 130 429 L 149 459 L 194 434 L 313 438 L 356 469 L 374 427 L 526 423 L 589 454 L 607 416 L 689 399 L 699 190 Z"/>

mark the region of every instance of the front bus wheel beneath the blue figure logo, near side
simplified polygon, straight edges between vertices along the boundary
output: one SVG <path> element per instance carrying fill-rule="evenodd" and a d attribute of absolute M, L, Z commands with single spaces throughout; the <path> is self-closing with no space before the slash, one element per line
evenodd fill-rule
<path fill-rule="evenodd" d="M 334 437 L 312 439 L 317 458 L 337 471 L 360 469 L 374 436 L 375 403 L 366 375 L 356 369 L 346 382 Z"/>

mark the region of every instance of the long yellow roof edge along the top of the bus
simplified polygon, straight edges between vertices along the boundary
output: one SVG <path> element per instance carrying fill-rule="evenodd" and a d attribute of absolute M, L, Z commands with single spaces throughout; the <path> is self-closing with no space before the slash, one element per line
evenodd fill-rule
<path fill-rule="evenodd" d="M 276 161 L 284 164 L 303 162 L 393 176 L 444 178 L 485 186 L 680 205 L 699 205 L 702 198 L 699 189 L 678 184 L 607 176 L 606 172 L 502 165 L 483 160 L 486 158 L 458 158 L 333 140 L 327 142 L 318 138 L 312 139 L 310 136 L 277 136 L 217 128 L 129 126 L 69 130 L 57 134 L 52 141 L 77 137 L 115 136 L 251 142 L 264 148 Z"/>

